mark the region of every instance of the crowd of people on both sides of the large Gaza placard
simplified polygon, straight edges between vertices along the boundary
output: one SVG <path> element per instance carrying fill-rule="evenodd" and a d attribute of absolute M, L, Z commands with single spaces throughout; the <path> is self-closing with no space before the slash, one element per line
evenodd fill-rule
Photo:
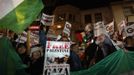
<path fill-rule="evenodd" d="M 98 25 L 100 25 L 100 23 Z M 92 25 L 88 24 L 83 32 L 85 38 L 76 38 L 78 41 L 71 43 L 70 56 L 67 60 L 71 71 L 87 69 L 120 48 L 124 51 L 134 51 L 134 36 L 125 36 L 125 38 L 123 38 L 122 35 L 119 35 L 118 31 L 109 35 L 103 31 L 103 27 L 100 26 L 98 28 L 99 29 L 97 29 L 96 25 L 95 31 Z M 43 34 L 45 31 L 39 30 L 39 33 Z M 41 39 L 39 36 L 41 42 L 32 45 L 30 50 L 27 50 L 26 42 L 16 42 L 19 36 L 14 32 L 8 31 L 7 37 L 23 63 L 28 66 L 25 71 L 30 75 L 41 75 L 44 67 L 44 42 L 46 42 L 47 39 Z M 61 35 L 60 39 L 55 41 L 71 42 L 68 36 L 64 34 Z M 84 44 L 84 47 L 81 46 L 82 44 Z"/>

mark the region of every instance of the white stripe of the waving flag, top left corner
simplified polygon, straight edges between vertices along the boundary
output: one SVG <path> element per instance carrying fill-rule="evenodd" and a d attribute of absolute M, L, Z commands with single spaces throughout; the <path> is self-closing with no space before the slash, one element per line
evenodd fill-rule
<path fill-rule="evenodd" d="M 6 16 L 24 0 L 0 0 L 0 19 Z"/>

